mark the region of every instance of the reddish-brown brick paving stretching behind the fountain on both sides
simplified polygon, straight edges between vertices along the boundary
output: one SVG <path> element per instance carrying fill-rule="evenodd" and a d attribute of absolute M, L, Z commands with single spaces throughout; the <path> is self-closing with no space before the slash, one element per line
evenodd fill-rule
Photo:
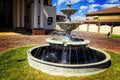
<path fill-rule="evenodd" d="M 98 47 L 104 50 L 111 50 L 117 53 L 120 53 L 120 39 L 107 38 L 103 34 L 96 33 L 85 33 L 83 35 L 89 35 L 86 37 L 91 41 L 90 46 Z M 77 33 L 78 36 L 81 36 L 81 33 Z M 0 52 L 34 44 L 43 44 L 46 43 L 45 39 L 48 38 L 46 35 L 0 35 Z"/>

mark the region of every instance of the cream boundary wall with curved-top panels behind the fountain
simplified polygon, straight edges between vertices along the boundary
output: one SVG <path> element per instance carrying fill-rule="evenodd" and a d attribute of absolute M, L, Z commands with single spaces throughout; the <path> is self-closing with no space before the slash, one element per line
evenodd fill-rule
<path fill-rule="evenodd" d="M 82 24 L 74 31 L 86 31 L 87 32 L 87 29 L 89 29 L 88 30 L 89 32 L 98 33 L 98 26 L 96 24 L 90 24 L 89 28 L 87 26 L 88 26 L 87 24 Z M 56 25 L 56 29 L 61 30 L 58 25 Z M 100 26 L 100 33 L 107 34 L 110 31 L 111 31 L 111 26 L 108 26 L 108 25 Z M 120 26 L 114 26 L 112 34 L 120 35 Z"/>

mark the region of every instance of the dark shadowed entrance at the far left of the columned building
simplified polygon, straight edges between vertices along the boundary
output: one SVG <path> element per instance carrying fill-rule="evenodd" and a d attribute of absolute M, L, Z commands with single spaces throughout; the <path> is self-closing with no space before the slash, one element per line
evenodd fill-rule
<path fill-rule="evenodd" d="M 13 29 L 13 0 L 0 0 L 0 31 Z"/>

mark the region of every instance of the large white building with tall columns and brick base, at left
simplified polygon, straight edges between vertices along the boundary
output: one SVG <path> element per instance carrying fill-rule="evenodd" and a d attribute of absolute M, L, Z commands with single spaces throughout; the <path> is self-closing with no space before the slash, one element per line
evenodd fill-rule
<path fill-rule="evenodd" d="M 0 30 L 45 34 L 55 29 L 52 0 L 0 0 Z"/>

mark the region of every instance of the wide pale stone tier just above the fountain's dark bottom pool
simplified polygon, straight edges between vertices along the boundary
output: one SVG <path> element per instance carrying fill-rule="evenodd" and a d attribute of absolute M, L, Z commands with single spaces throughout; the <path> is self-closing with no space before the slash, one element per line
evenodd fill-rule
<path fill-rule="evenodd" d="M 79 48 L 81 46 L 86 46 L 90 43 L 89 40 L 73 38 L 75 41 L 71 41 L 68 38 L 47 38 L 46 41 L 52 47 L 63 48 L 63 46 L 71 46 L 71 48 Z"/>

